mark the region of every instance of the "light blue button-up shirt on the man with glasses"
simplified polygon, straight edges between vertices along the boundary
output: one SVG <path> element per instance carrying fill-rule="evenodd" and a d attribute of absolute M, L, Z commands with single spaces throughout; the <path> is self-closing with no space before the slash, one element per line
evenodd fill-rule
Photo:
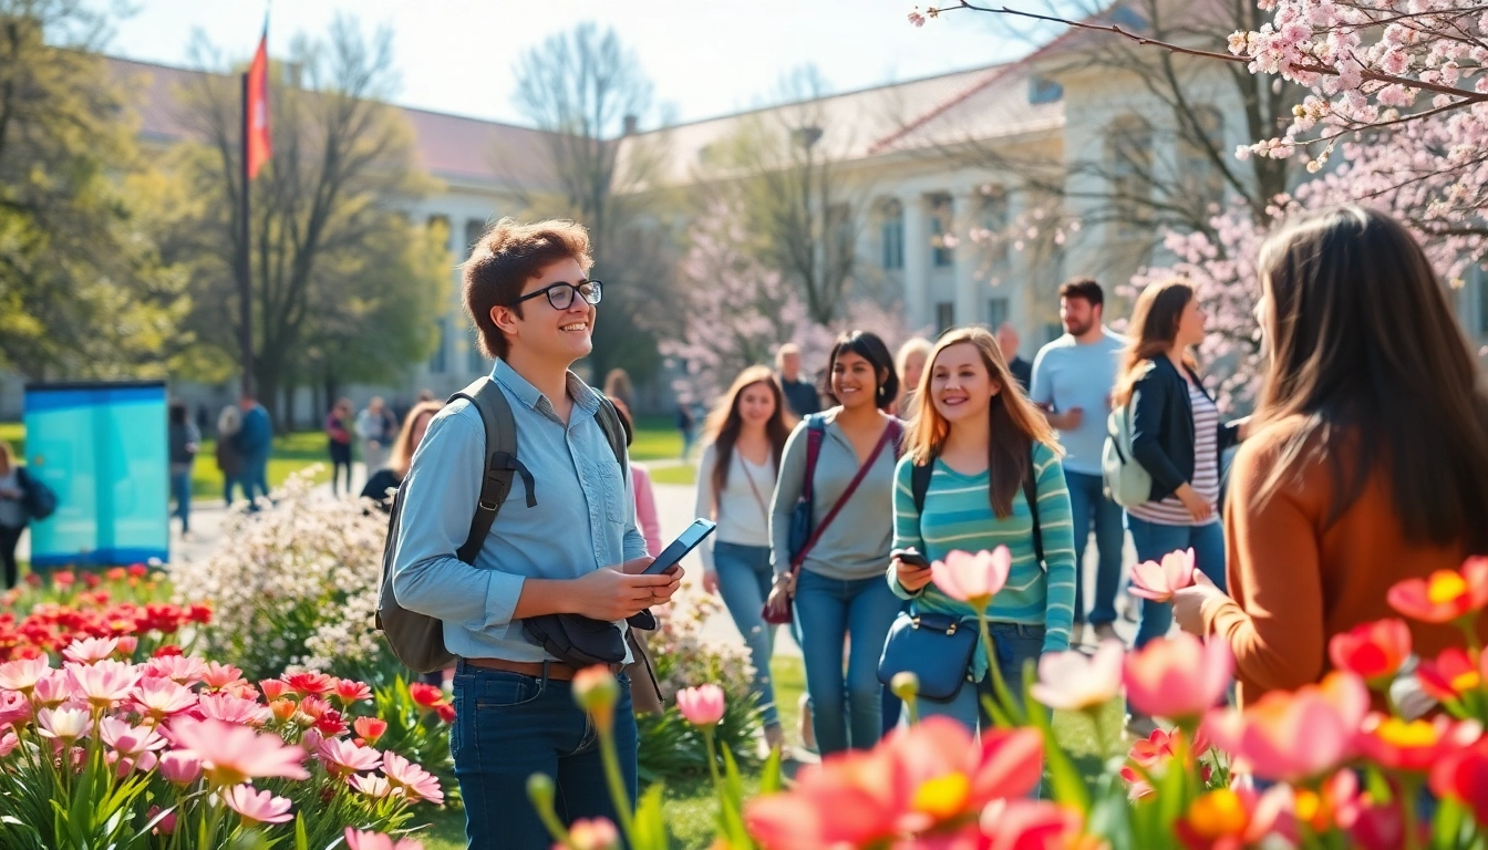
<path fill-rule="evenodd" d="M 503 360 L 491 372 L 516 420 L 516 457 L 533 473 L 537 505 L 521 476 L 501 505 L 475 564 L 455 557 L 470 533 L 485 427 L 457 400 L 429 423 L 403 482 L 393 592 L 408 610 L 443 621 L 445 646 L 464 658 L 545 661 L 512 619 L 528 578 L 576 579 L 646 554 L 629 481 L 595 414 L 598 394 L 570 372 L 574 400 L 564 427 L 552 403 Z M 623 622 L 618 624 L 623 628 Z"/>

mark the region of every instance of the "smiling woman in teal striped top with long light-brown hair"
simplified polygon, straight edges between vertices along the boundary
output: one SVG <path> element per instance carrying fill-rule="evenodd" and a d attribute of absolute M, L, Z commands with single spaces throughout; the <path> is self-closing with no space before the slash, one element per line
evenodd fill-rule
<path fill-rule="evenodd" d="M 926 394 L 912 412 L 905 458 L 894 470 L 894 549 L 943 561 L 955 549 L 1007 546 L 1012 569 L 985 610 L 995 658 L 978 648 L 958 677 L 975 685 L 963 685 L 948 701 L 921 701 L 921 713 L 948 715 L 972 731 L 990 728 L 981 707 L 981 698 L 992 694 L 990 665 L 1021 700 L 1024 667 L 1037 665 L 1043 652 L 1070 648 L 1074 539 L 1059 451 L 1054 429 L 1016 386 L 990 332 L 961 327 L 940 338 Z M 917 467 L 929 469 L 923 505 L 915 496 Z M 915 613 L 949 613 L 967 628 L 976 628 L 984 613 L 931 585 L 924 566 L 894 558 L 888 585 L 911 600 Z"/>

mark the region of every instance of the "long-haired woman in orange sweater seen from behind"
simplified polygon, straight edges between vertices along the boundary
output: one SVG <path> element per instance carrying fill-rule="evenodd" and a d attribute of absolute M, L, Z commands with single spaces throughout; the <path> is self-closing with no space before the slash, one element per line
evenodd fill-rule
<path fill-rule="evenodd" d="M 1269 362 L 1229 473 L 1231 595 L 1199 579 L 1174 600 L 1229 642 L 1241 706 L 1321 679 L 1329 639 L 1399 616 L 1400 579 L 1488 552 L 1488 392 L 1415 238 L 1338 207 L 1272 234 L 1256 269 Z M 1411 631 L 1421 655 L 1460 642 Z"/>

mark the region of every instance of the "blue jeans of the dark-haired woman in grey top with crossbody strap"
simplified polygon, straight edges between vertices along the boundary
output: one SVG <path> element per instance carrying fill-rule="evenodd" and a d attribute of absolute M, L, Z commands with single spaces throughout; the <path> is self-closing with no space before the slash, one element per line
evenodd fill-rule
<path fill-rule="evenodd" d="M 806 665 L 817 750 L 823 756 L 848 747 L 866 750 L 882 737 L 884 688 L 878 682 L 878 658 L 896 613 L 899 597 L 888 589 L 882 575 L 829 579 L 801 570 L 796 578 L 801 655 Z M 844 676 L 842 645 L 848 640 Z"/>

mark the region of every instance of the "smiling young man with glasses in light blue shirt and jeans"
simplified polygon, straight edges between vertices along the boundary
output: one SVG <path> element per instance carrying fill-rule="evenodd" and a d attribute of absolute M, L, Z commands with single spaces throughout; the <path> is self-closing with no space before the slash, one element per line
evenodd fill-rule
<path fill-rule="evenodd" d="M 559 816 L 616 820 L 594 728 L 574 704 L 576 668 L 531 642 L 522 619 L 573 613 L 623 619 L 677 591 L 680 570 L 640 575 L 652 558 L 635 503 L 600 426 L 600 396 L 568 368 L 589 354 L 603 286 L 588 278 L 589 237 L 571 222 L 503 219 L 464 263 L 464 307 L 512 408 L 513 490 L 467 564 L 485 469 L 485 429 L 464 399 L 429 424 L 403 482 L 393 591 L 409 610 L 443 621 L 460 656 L 451 750 L 472 849 L 551 844 L 527 780 L 557 783 Z M 528 484 L 524 484 L 528 482 Z M 536 503 L 524 490 L 536 490 Z M 634 801 L 635 719 L 620 679 L 615 738 Z"/>

